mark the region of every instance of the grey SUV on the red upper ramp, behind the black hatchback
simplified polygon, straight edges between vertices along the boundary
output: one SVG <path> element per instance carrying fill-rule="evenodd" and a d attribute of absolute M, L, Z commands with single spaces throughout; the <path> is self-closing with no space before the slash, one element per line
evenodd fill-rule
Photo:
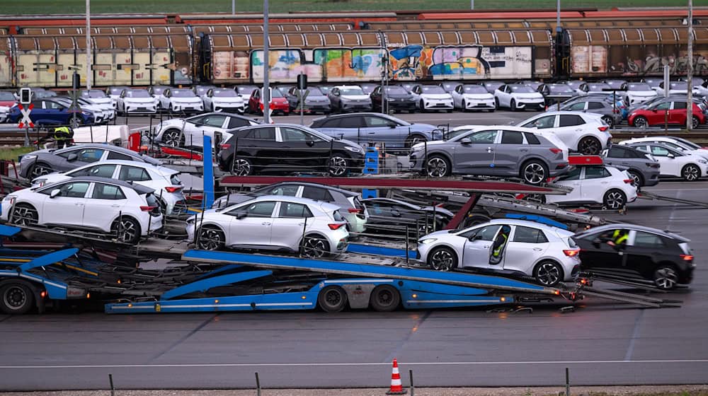
<path fill-rule="evenodd" d="M 515 176 L 530 184 L 569 170 L 567 151 L 530 129 L 506 126 L 477 127 L 447 141 L 416 144 L 410 160 L 411 170 L 430 177 Z"/>

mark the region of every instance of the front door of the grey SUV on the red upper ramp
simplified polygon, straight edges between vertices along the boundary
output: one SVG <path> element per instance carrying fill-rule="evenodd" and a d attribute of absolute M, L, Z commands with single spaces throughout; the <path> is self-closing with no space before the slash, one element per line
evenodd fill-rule
<path fill-rule="evenodd" d="M 457 173 L 494 174 L 492 168 L 498 132 L 496 129 L 485 129 L 472 132 L 463 139 L 455 141 L 457 146 L 455 146 L 452 168 Z"/>

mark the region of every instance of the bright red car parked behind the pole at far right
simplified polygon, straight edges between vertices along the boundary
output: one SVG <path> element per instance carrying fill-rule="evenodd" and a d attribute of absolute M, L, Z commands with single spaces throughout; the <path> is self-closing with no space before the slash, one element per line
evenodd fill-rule
<path fill-rule="evenodd" d="M 706 123 L 706 115 L 704 114 L 704 105 L 693 103 L 693 128 L 697 128 L 700 124 Z M 667 115 L 668 112 L 668 115 Z M 684 125 L 686 124 L 686 101 L 685 99 L 666 100 L 659 103 L 653 103 L 645 109 L 637 109 L 629 113 L 627 122 L 632 127 L 653 127 L 654 125 L 663 125 L 668 120 L 668 124 Z"/>

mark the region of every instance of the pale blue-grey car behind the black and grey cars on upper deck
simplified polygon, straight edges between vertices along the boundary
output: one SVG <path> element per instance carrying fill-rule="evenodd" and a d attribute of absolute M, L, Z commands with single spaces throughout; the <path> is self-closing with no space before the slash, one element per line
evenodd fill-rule
<path fill-rule="evenodd" d="M 442 130 L 430 124 L 410 124 L 377 112 L 329 115 L 312 122 L 311 128 L 357 144 L 384 143 L 390 148 L 410 148 L 423 141 L 442 140 Z"/>

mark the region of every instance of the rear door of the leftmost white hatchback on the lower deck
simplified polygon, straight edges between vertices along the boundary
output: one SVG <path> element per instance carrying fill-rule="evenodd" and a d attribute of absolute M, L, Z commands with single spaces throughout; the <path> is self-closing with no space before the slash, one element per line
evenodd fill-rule
<path fill-rule="evenodd" d="M 105 183 L 93 183 L 84 208 L 84 227 L 110 231 L 113 219 L 128 204 L 121 187 Z"/>

